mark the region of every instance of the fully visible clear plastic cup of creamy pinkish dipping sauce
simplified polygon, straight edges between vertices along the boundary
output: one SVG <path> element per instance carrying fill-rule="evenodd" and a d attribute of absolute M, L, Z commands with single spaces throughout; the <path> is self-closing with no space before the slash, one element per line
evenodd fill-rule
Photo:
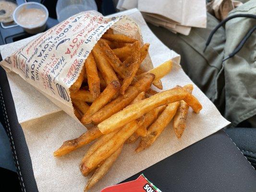
<path fill-rule="evenodd" d="M 42 20 L 41 22 L 39 22 L 37 24 L 27 24 L 27 25 L 21 24 L 17 18 L 19 16 L 19 14 L 21 13 L 21 11 L 26 11 L 28 9 L 39 9 L 45 13 L 46 17 L 44 18 L 44 20 Z M 44 31 L 46 29 L 46 22 L 47 22 L 48 17 L 49 17 L 49 12 L 48 12 L 47 8 L 44 5 L 37 3 L 37 2 L 28 2 L 28 3 L 21 4 L 13 12 L 14 22 L 16 24 L 20 25 L 21 27 L 23 27 L 24 30 L 30 34 L 37 34 L 37 33 Z M 33 18 L 31 18 L 31 19 L 33 20 Z"/>

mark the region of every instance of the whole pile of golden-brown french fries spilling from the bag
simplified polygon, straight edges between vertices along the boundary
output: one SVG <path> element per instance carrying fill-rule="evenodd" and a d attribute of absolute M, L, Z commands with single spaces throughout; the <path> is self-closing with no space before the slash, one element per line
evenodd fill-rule
<path fill-rule="evenodd" d="M 70 87 L 76 117 L 94 126 L 73 140 L 65 141 L 54 156 L 66 155 L 95 141 L 81 161 L 84 176 L 93 173 L 85 191 L 92 188 L 110 169 L 123 144 L 140 139 L 136 152 L 152 145 L 173 119 L 180 138 L 186 124 L 188 108 L 202 109 L 191 95 L 192 84 L 161 90 L 161 78 L 171 71 L 171 60 L 150 71 L 140 64 L 148 54 L 149 44 L 129 36 L 113 34 L 109 29 L 97 42 L 80 73 Z M 156 89 L 156 88 L 155 88 Z"/>

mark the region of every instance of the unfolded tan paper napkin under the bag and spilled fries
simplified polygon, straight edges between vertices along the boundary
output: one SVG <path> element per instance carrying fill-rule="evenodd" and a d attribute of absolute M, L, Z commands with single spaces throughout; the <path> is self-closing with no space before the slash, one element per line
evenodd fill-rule
<path fill-rule="evenodd" d="M 172 88 L 177 84 L 193 84 L 179 65 L 180 56 L 159 41 L 147 27 L 138 10 L 134 9 L 118 14 L 129 15 L 140 26 L 144 42 L 150 43 L 149 55 L 154 67 L 168 59 L 173 60 L 171 73 L 162 79 L 164 89 Z M 2 57 L 10 55 L 14 50 L 25 45 L 26 41 L 25 39 L 0 47 Z M 60 158 L 54 158 L 52 153 L 61 146 L 63 141 L 75 138 L 85 132 L 84 126 L 58 107 L 54 107 L 55 105 L 47 99 L 43 99 L 44 96 L 20 76 L 14 73 L 7 75 L 19 122 L 21 120 L 24 122 L 22 128 L 39 192 L 82 192 L 89 178 L 82 176 L 79 164 L 90 144 Z M 104 187 L 117 184 L 229 124 L 200 89 L 195 84 L 193 85 L 193 95 L 201 102 L 203 109 L 200 114 L 195 114 L 189 109 L 187 127 L 182 138 L 175 137 L 172 123 L 170 123 L 157 141 L 141 153 L 134 153 L 138 143 L 125 144 L 121 156 L 109 173 L 99 181 L 91 192 L 99 192 Z M 26 93 L 24 93 L 25 91 Z M 22 97 L 24 102 L 20 101 L 19 94 L 25 96 Z M 46 104 L 42 103 L 40 99 Z M 43 108 L 44 105 L 46 105 L 45 108 Z M 42 108 L 43 111 L 41 111 Z M 30 118 L 24 118 L 24 111 Z M 152 154 L 154 155 L 152 156 Z"/>

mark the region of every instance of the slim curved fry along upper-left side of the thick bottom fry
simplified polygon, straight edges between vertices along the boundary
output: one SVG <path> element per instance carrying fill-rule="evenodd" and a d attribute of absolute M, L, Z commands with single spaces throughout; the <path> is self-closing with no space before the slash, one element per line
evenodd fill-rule
<path fill-rule="evenodd" d="M 104 145 L 107 141 L 109 141 L 116 133 L 118 132 L 110 132 L 109 134 L 102 135 L 95 141 L 90 148 L 86 151 L 84 158 L 82 159 L 80 166 L 91 156 L 100 146 Z"/>

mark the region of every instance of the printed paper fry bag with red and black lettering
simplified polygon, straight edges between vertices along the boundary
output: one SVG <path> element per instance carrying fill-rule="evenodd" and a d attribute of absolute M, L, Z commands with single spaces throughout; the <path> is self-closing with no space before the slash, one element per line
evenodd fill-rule
<path fill-rule="evenodd" d="M 95 11 L 81 12 L 38 36 L 0 64 L 19 74 L 77 120 L 69 88 L 77 80 L 92 48 L 110 27 L 114 33 L 143 43 L 138 25 L 128 16 L 109 18 Z M 144 68 L 153 66 L 148 55 L 144 63 Z"/>

